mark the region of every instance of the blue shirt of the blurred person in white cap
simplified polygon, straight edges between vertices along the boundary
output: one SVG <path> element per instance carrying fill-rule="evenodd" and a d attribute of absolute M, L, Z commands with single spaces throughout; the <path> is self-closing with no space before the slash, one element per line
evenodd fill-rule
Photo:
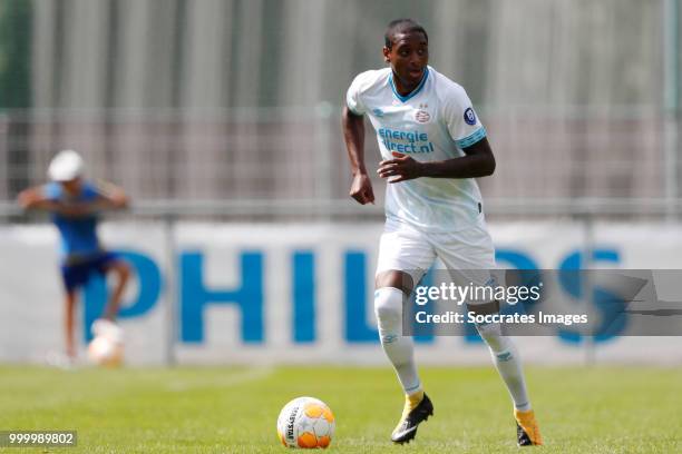
<path fill-rule="evenodd" d="M 49 200 L 68 205 L 95 201 L 101 197 L 101 193 L 90 181 L 84 181 L 80 194 L 75 196 L 66 193 L 60 184 L 49 182 L 45 186 L 45 196 Z M 60 256 L 64 261 L 92 256 L 103 250 L 97 237 L 97 214 L 70 217 L 53 213 L 51 217 L 61 236 Z"/>

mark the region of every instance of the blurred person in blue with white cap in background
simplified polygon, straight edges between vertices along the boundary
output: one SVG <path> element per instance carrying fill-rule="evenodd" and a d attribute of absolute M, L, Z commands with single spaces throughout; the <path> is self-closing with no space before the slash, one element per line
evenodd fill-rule
<path fill-rule="evenodd" d="M 48 168 L 50 182 L 19 194 L 25 209 L 41 209 L 51 214 L 61 236 L 60 261 L 65 286 L 65 333 L 68 363 L 77 357 L 74 339 L 74 309 L 77 290 L 94 275 L 116 276 L 116 284 L 103 314 L 92 324 L 95 335 L 120 336 L 114 324 L 120 298 L 126 288 L 130 269 L 116 254 L 103 248 L 97 236 L 98 214 L 108 209 L 125 208 L 125 191 L 109 182 L 84 179 L 84 161 L 74 150 L 62 150 Z"/>

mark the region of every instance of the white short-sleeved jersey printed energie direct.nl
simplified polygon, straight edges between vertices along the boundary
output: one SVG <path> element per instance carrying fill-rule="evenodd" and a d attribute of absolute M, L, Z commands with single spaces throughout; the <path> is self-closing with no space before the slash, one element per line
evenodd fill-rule
<path fill-rule="evenodd" d="M 353 114 L 369 116 L 383 159 L 393 159 L 391 151 L 419 161 L 457 158 L 486 137 L 464 88 L 431 67 L 407 97 L 396 90 L 391 68 L 362 72 L 348 89 L 347 103 Z M 461 230 L 483 223 L 480 190 L 474 178 L 388 184 L 386 216 L 423 231 Z"/>

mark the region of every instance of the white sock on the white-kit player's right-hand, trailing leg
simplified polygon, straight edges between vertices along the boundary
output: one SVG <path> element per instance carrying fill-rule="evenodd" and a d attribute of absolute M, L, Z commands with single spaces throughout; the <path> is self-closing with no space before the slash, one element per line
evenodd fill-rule
<path fill-rule="evenodd" d="M 507 385 L 514 401 L 514 407 L 522 412 L 529 411 L 530 401 L 528 399 L 522 361 L 516 346 L 509 337 L 501 335 L 499 324 L 477 325 L 476 328 L 490 348 L 493 362 L 505 385 Z"/>

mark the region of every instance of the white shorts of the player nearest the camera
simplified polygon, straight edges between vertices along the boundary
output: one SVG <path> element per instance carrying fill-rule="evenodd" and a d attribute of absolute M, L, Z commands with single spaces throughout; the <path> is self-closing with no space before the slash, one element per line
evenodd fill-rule
<path fill-rule="evenodd" d="M 377 275 L 388 270 L 408 273 L 413 285 L 439 258 L 459 285 L 486 285 L 495 268 L 495 247 L 484 223 L 457 233 L 430 234 L 408 225 L 387 223 L 379 244 Z"/>

